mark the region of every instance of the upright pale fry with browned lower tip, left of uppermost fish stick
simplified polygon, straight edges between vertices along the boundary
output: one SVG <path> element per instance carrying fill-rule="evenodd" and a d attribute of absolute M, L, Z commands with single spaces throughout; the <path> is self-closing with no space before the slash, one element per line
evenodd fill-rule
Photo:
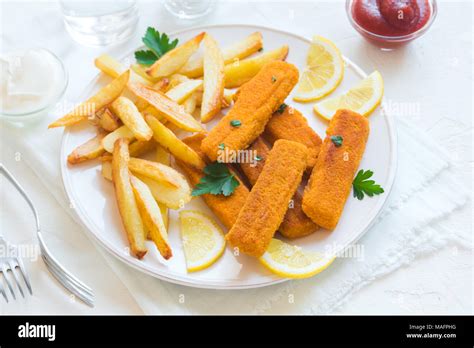
<path fill-rule="evenodd" d="M 201 122 L 207 123 L 221 110 L 224 96 L 224 58 L 216 40 L 204 37 L 204 83 Z"/>

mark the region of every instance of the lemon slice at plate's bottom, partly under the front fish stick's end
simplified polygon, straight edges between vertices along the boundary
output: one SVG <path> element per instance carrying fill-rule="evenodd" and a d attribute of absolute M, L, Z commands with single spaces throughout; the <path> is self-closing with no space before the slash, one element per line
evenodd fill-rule
<path fill-rule="evenodd" d="M 333 255 L 305 252 L 295 245 L 272 239 L 260 262 L 280 277 L 309 278 L 326 269 L 334 259 Z"/>

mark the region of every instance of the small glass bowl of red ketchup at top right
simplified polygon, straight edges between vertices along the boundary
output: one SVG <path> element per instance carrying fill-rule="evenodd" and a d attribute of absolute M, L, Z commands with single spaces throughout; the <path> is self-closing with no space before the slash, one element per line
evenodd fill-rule
<path fill-rule="evenodd" d="M 366 39 L 393 48 L 425 33 L 433 23 L 436 0 L 347 0 L 349 22 Z"/>

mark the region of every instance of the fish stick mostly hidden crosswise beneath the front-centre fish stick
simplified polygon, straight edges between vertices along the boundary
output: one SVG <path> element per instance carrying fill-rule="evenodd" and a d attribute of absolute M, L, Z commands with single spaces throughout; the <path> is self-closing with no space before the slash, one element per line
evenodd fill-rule
<path fill-rule="evenodd" d="M 255 151 L 255 155 L 258 156 L 258 161 L 253 163 L 240 163 L 240 168 L 253 186 L 263 170 L 265 159 L 268 157 L 270 148 L 261 137 L 258 137 L 257 140 L 250 145 L 249 150 Z M 319 226 L 311 221 L 303 212 L 301 207 L 303 197 L 298 191 L 295 192 L 292 200 L 293 202 L 286 211 L 278 231 L 286 238 L 299 238 L 317 231 Z"/>

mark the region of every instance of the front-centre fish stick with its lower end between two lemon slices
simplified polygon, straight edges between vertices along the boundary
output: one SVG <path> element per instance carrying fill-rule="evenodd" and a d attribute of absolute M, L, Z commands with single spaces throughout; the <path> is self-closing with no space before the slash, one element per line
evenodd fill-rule
<path fill-rule="evenodd" d="M 307 157 L 308 150 L 300 143 L 283 139 L 275 142 L 237 221 L 226 235 L 233 247 L 252 256 L 263 255 L 298 188 Z"/>

